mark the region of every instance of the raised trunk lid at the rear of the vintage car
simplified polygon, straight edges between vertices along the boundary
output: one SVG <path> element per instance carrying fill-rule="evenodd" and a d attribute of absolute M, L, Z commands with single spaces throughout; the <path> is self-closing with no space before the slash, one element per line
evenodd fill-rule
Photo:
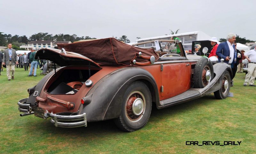
<path fill-rule="evenodd" d="M 59 49 L 40 49 L 36 52 L 35 59 L 37 58 L 50 60 L 60 65 L 61 67 L 68 65 L 91 65 L 95 67 L 100 67 L 100 65 L 98 65 L 90 58 L 87 58 L 78 53 L 66 52 Z"/>

